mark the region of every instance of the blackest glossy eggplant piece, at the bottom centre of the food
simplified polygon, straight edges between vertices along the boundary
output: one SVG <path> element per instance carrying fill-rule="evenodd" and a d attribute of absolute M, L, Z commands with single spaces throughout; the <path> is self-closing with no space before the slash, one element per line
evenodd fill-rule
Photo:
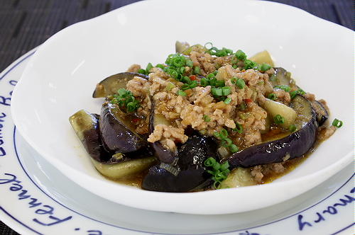
<path fill-rule="evenodd" d="M 204 168 L 204 161 L 209 157 L 217 158 L 217 143 L 212 137 L 194 132 L 185 144 L 178 149 L 176 164 L 160 163 L 152 166 L 143 179 L 145 190 L 182 193 L 207 186 L 211 176 Z"/>

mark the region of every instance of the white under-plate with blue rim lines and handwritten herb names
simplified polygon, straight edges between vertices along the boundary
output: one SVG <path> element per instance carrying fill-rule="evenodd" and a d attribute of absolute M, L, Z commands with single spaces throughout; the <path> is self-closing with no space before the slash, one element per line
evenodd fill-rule
<path fill-rule="evenodd" d="M 352 233 L 352 164 L 293 200 L 240 214 L 191 215 L 138 210 L 78 187 L 26 143 L 13 125 L 10 106 L 3 104 L 5 98 L 11 97 L 13 85 L 33 52 L 23 55 L 0 74 L 0 219 L 20 234 Z M 9 182 L 9 179 L 18 181 Z M 26 190 L 23 197 L 29 197 L 20 199 L 23 190 Z M 43 214 L 51 208 L 53 214 Z"/>

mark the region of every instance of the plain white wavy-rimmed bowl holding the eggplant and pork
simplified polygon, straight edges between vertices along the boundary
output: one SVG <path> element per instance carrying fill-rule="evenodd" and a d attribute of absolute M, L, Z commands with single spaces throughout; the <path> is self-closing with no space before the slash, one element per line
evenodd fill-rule
<path fill-rule="evenodd" d="M 192 9 L 207 17 L 196 20 Z M 248 55 L 268 49 L 305 91 L 328 101 L 330 120 L 337 117 L 344 126 L 295 171 L 266 185 L 158 193 L 105 179 L 89 161 L 68 117 L 82 108 L 99 113 L 102 101 L 91 98 L 98 81 L 132 63 L 163 62 L 177 39 L 212 41 Z M 349 29 L 268 1 L 141 1 L 72 25 L 40 46 L 13 93 L 13 120 L 40 156 L 78 185 L 114 202 L 191 214 L 256 210 L 314 188 L 353 158 L 353 39 Z"/>

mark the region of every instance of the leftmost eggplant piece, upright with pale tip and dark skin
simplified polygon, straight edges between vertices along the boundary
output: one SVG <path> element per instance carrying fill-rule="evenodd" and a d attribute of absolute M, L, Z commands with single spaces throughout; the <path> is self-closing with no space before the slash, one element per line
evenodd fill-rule
<path fill-rule="evenodd" d="M 102 147 L 98 124 L 99 115 L 80 110 L 69 117 L 69 122 L 92 159 L 108 161 L 111 158 Z"/>

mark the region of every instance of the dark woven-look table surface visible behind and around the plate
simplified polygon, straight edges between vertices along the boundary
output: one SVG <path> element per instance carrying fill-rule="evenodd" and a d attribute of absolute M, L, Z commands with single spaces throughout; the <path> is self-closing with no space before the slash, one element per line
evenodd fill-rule
<path fill-rule="evenodd" d="M 59 30 L 137 0 L 6 0 L 0 6 L 0 71 Z M 354 30 L 354 1 L 275 0 Z M 0 235 L 18 234 L 0 222 Z"/>

